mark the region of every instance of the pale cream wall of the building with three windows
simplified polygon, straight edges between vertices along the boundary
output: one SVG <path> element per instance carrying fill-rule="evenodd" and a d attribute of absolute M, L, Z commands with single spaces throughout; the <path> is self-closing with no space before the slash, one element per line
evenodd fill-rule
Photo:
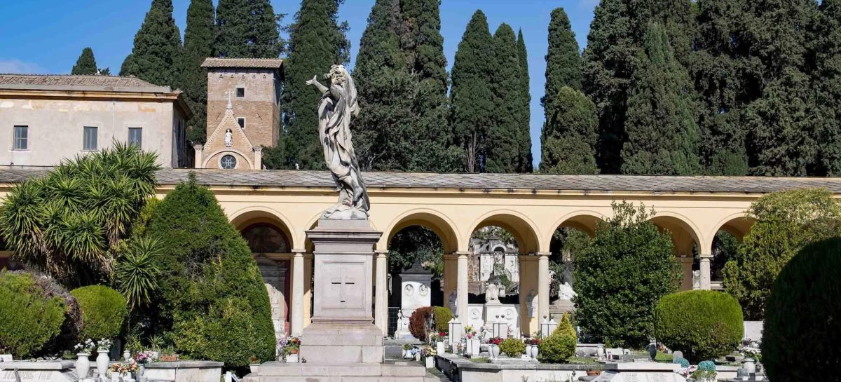
<path fill-rule="evenodd" d="M 27 150 L 13 150 L 15 125 L 29 126 Z M 52 166 L 85 154 L 83 128 L 96 126 L 99 150 L 112 146 L 114 140 L 127 141 L 129 128 L 141 127 L 143 149 L 156 151 L 161 166 L 177 167 L 182 143 L 173 140 L 173 133 L 178 126 L 183 130 L 183 125 L 183 116 L 173 111 L 172 102 L 4 98 L 0 100 L 0 165 Z"/>

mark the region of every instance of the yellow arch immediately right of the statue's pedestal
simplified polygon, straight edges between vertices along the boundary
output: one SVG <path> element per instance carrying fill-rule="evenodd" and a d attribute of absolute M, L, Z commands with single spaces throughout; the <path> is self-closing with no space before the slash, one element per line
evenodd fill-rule
<path fill-rule="evenodd" d="M 404 214 L 395 218 L 389 225 L 389 228 L 385 230 L 386 234 L 380 238 L 377 248 L 381 251 L 387 250 L 389 242 L 391 242 L 394 235 L 400 230 L 412 225 L 421 225 L 435 232 L 438 238 L 441 239 L 444 253 L 456 252 L 462 245 L 458 241 L 460 237 L 458 235 L 458 228 L 450 218 L 435 210 L 416 209 L 406 211 Z"/>

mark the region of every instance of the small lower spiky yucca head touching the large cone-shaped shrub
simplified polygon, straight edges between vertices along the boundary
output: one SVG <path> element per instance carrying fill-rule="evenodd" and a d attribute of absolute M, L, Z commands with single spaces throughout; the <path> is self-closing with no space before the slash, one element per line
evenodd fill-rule
<path fill-rule="evenodd" d="M 114 284 L 129 300 L 131 310 L 151 301 L 151 292 L 157 289 L 157 279 L 161 276 L 155 257 L 162 252 L 161 242 L 157 239 L 138 237 L 131 240 L 127 250 L 119 257 Z"/>

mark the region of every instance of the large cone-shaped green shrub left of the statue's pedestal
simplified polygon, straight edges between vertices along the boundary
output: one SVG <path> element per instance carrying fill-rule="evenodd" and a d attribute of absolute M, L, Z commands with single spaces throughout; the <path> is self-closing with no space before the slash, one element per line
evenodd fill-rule
<path fill-rule="evenodd" d="M 161 241 L 154 257 L 158 293 L 145 320 L 189 358 L 241 368 L 251 356 L 275 358 L 272 310 L 251 249 L 213 192 L 190 174 L 151 211 L 145 236 Z M 155 309 L 157 308 L 157 309 Z"/>

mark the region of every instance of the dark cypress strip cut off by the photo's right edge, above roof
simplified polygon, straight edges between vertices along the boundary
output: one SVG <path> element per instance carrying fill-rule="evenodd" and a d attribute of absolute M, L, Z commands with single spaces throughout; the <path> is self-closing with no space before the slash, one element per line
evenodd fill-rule
<path fill-rule="evenodd" d="M 823 0 L 817 18 L 815 71 L 820 117 L 819 162 L 821 173 L 841 175 L 841 3 Z"/>

